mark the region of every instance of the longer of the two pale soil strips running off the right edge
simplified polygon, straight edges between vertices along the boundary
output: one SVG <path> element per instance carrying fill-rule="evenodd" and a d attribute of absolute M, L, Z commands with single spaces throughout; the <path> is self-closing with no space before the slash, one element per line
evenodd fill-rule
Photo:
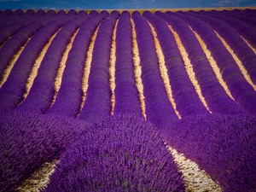
<path fill-rule="evenodd" d="M 214 31 L 215 32 L 215 31 Z M 221 40 L 222 44 L 224 44 L 224 47 L 230 52 L 230 55 L 232 55 L 233 59 L 236 61 L 237 66 L 239 67 L 243 77 L 247 80 L 249 84 L 252 85 L 253 89 L 256 90 L 256 84 L 253 84 L 252 79 L 250 78 L 249 74 L 247 73 L 247 70 L 242 65 L 242 61 L 236 56 L 233 49 L 230 48 L 230 45 L 226 43 L 224 38 L 222 38 L 218 32 L 215 32 L 217 37 Z"/>

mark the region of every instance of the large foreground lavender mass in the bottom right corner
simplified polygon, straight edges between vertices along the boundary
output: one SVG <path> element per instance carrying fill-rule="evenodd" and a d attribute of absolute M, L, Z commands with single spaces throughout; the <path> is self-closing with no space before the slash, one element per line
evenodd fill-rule
<path fill-rule="evenodd" d="M 224 192 L 255 190 L 256 119 L 246 114 L 189 116 L 160 135 Z"/>

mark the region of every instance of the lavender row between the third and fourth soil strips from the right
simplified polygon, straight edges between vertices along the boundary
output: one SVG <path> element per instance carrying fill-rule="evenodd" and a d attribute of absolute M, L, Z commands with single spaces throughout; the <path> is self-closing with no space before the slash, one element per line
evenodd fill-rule
<path fill-rule="evenodd" d="M 157 12 L 155 15 L 165 19 L 181 38 L 193 66 L 195 78 L 200 84 L 202 96 L 212 113 L 243 113 L 244 110 L 230 99 L 224 88 L 218 83 L 201 45 L 195 38 L 195 34 L 189 29 L 188 24 L 173 15 L 161 12 Z"/>

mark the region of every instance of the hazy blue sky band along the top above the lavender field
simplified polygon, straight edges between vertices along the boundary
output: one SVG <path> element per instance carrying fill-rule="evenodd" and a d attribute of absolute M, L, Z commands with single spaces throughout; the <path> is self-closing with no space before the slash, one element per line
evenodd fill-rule
<path fill-rule="evenodd" d="M 0 0 L 0 9 L 176 9 L 256 7 L 256 0 Z"/>

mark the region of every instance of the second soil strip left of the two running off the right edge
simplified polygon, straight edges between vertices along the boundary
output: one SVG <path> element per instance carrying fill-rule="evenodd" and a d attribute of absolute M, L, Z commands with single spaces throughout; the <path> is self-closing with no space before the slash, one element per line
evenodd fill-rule
<path fill-rule="evenodd" d="M 189 55 L 188 55 L 186 49 L 184 48 L 184 46 L 183 46 L 183 44 L 182 44 L 182 42 L 181 42 L 181 39 L 179 38 L 177 32 L 175 32 L 175 31 L 172 29 L 172 26 L 170 26 L 170 25 L 168 25 L 168 26 L 169 26 L 169 28 L 170 28 L 170 30 L 171 30 L 171 32 L 172 32 L 174 38 L 175 38 L 175 41 L 176 41 L 176 44 L 177 44 L 177 48 L 179 49 L 179 51 L 180 51 L 180 53 L 181 53 L 181 55 L 182 55 L 182 57 L 183 57 L 184 67 L 185 67 L 185 69 L 186 69 L 186 71 L 187 71 L 187 73 L 188 73 L 188 75 L 189 75 L 190 81 L 192 82 L 192 84 L 193 84 L 194 87 L 195 87 L 195 91 L 196 91 L 197 95 L 199 96 L 199 99 L 201 100 L 201 102 L 203 103 L 203 105 L 205 106 L 205 108 L 207 108 L 207 110 L 208 110 L 210 113 L 212 113 L 212 112 L 210 111 L 210 109 L 208 108 L 208 106 L 207 106 L 207 102 L 206 102 L 206 100 L 205 100 L 205 97 L 202 96 L 202 94 L 201 94 L 201 87 L 200 87 L 200 85 L 199 85 L 197 79 L 195 78 L 195 73 L 194 73 L 194 71 L 193 71 L 193 66 L 192 66 L 192 64 L 191 64 L 191 62 L 190 62 L 190 60 L 189 60 Z"/>

